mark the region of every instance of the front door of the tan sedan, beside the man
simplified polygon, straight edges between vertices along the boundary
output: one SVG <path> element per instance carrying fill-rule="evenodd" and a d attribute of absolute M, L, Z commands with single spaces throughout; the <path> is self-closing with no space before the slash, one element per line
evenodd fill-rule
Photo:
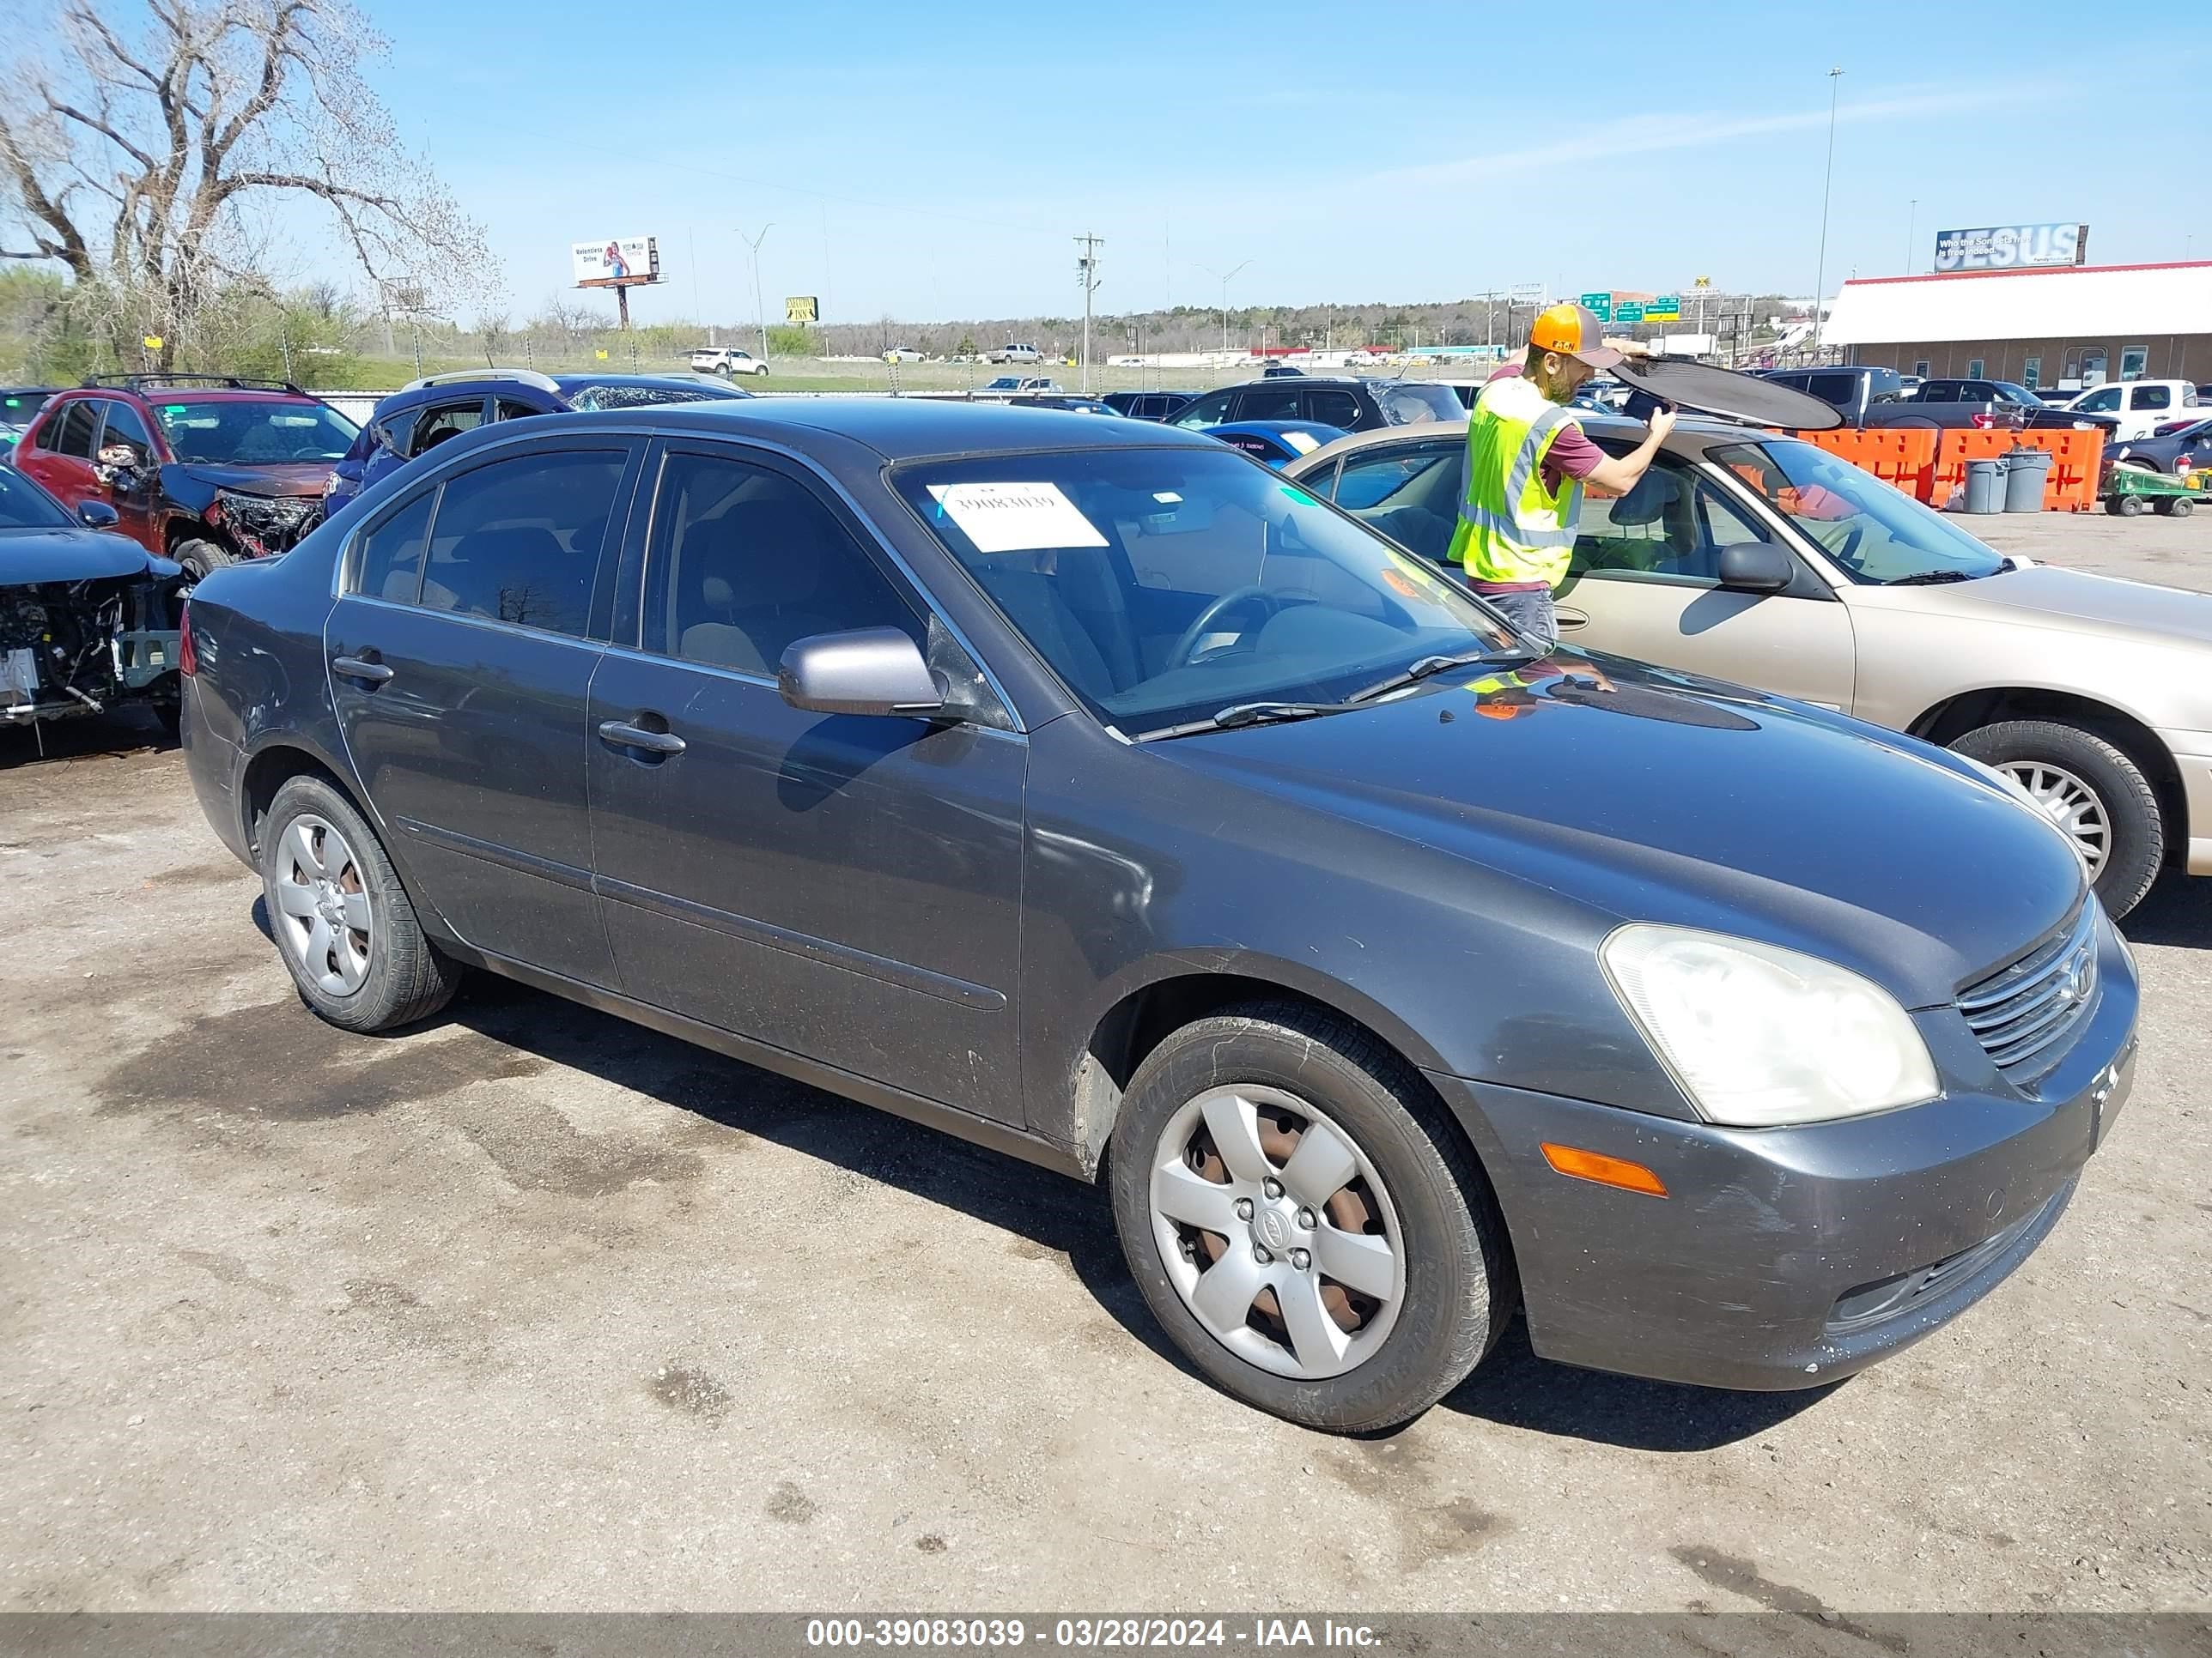
<path fill-rule="evenodd" d="M 1721 586 L 1721 550 L 1783 533 L 1708 475 L 1661 455 L 1617 500 L 1584 495 L 1559 639 L 1849 710 L 1851 612 L 1801 566 L 1783 592 Z"/>

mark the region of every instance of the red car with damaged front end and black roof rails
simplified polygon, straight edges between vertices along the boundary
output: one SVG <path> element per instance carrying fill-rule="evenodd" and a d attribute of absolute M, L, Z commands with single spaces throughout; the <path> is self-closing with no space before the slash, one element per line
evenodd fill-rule
<path fill-rule="evenodd" d="M 13 462 L 69 506 L 199 579 L 283 553 L 323 515 L 323 482 L 358 429 L 285 380 L 126 374 L 58 391 Z"/>

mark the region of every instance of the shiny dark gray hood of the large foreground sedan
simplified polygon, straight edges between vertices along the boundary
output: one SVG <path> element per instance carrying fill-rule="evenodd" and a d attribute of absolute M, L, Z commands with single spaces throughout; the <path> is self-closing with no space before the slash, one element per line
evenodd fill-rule
<path fill-rule="evenodd" d="M 1544 665 L 1526 688 L 1473 690 L 1498 672 L 1155 752 L 1542 886 L 1599 926 L 1761 937 L 1909 1008 L 1951 1001 L 2081 898 L 2066 840 L 1942 749 L 1624 661 L 1606 659 L 1613 692 Z"/>

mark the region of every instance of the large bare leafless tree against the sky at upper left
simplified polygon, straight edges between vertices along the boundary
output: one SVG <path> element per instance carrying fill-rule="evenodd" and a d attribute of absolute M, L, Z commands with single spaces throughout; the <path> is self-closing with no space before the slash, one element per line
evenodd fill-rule
<path fill-rule="evenodd" d="M 259 279 L 283 203 L 321 203 L 372 281 L 473 298 L 482 230 L 398 146 L 361 77 L 383 51 L 352 0 L 62 0 L 51 60 L 0 80 L 0 259 L 64 265 L 164 367 Z"/>

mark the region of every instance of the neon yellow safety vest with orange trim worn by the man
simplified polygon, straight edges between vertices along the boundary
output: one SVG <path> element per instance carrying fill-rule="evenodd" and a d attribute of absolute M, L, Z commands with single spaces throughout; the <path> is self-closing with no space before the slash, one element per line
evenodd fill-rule
<path fill-rule="evenodd" d="M 1544 486 L 1544 455 L 1573 420 L 1571 409 L 1524 376 L 1491 380 L 1467 422 L 1467 500 L 1451 535 L 1453 564 L 1471 581 L 1544 581 L 1559 586 L 1575 555 L 1582 480 Z"/>

